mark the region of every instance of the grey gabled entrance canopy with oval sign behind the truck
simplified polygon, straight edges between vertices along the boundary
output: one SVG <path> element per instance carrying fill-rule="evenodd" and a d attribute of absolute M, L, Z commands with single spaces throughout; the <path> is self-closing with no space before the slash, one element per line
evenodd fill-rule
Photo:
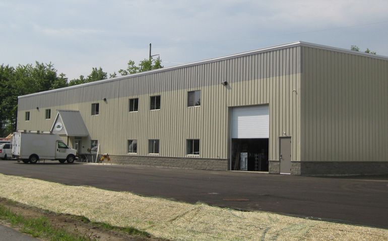
<path fill-rule="evenodd" d="M 65 137 L 89 136 L 79 110 L 58 110 L 50 132 Z"/>

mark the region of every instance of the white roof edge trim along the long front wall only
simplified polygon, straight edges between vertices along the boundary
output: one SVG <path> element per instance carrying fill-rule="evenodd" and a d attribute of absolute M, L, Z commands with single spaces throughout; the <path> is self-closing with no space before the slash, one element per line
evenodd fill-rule
<path fill-rule="evenodd" d="M 202 60 L 202 61 L 197 61 L 197 62 L 192 62 L 192 63 L 187 63 L 187 64 L 166 67 L 166 68 L 154 69 L 154 70 L 144 71 L 141 73 L 124 75 L 124 76 L 119 76 L 119 77 L 114 77 L 114 78 L 109 78 L 109 79 L 101 79 L 101 80 L 96 80 L 96 81 L 88 82 L 88 83 L 84 83 L 84 84 L 77 84 L 77 85 L 73 85 L 73 86 L 68 86 L 68 87 L 63 87 L 63 88 L 58 88 L 58 89 L 51 89 L 51 90 L 46 90 L 46 91 L 37 92 L 37 93 L 20 95 L 20 96 L 18 96 L 18 98 L 30 97 L 30 96 L 34 96 L 34 95 L 46 94 L 46 93 L 51 93 L 51 92 L 58 92 L 58 91 L 67 90 L 67 89 L 79 88 L 79 87 L 83 87 L 83 86 L 87 86 L 87 85 L 99 84 L 101 82 L 110 82 L 110 81 L 115 81 L 115 80 L 119 80 L 119 79 L 131 78 L 131 77 L 146 75 L 146 74 L 150 74 L 150 73 L 157 73 L 157 72 L 167 71 L 167 70 L 171 70 L 171 69 L 178 69 L 178 68 L 203 64 L 203 63 L 211 63 L 211 62 L 215 62 L 215 61 L 219 61 L 219 60 L 232 59 L 232 58 L 236 58 L 236 57 L 240 57 L 240 56 L 244 56 L 244 55 L 251 55 L 251 54 L 256 54 L 256 53 L 261 53 L 261 52 L 266 52 L 266 51 L 271 51 L 271 50 L 277 50 L 277 49 L 282 49 L 282 48 L 288 48 L 288 47 L 294 47 L 294 46 L 299 46 L 299 45 L 300 45 L 300 41 L 297 41 L 297 42 L 292 42 L 292 43 L 288 43 L 288 44 L 276 45 L 276 46 L 272 46 L 272 47 L 256 49 L 256 50 L 252 50 L 252 51 L 248 51 L 248 52 L 227 55 L 227 56 L 213 58 L 213 59 L 207 59 L 207 60 Z"/>

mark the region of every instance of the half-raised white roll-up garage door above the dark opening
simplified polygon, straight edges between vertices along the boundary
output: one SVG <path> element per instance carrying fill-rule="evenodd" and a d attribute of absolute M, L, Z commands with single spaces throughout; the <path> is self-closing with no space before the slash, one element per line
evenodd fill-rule
<path fill-rule="evenodd" d="M 269 138 L 269 136 L 268 104 L 232 108 L 232 138 Z"/>

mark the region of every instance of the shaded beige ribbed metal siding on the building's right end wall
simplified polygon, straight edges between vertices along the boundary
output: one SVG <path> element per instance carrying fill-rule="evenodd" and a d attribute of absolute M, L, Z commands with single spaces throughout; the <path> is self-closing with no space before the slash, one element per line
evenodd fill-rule
<path fill-rule="evenodd" d="M 301 160 L 388 161 L 388 60 L 302 47 Z"/>

